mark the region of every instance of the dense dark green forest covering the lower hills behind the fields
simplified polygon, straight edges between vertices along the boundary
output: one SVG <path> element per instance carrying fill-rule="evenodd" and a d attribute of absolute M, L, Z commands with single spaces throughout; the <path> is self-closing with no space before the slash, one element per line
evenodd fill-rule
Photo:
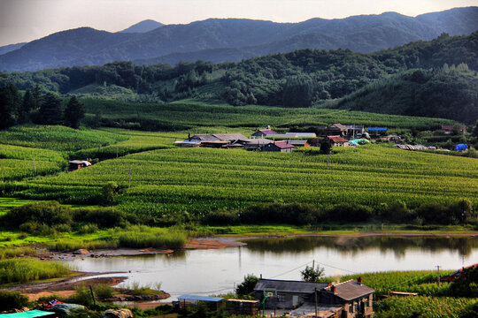
<path fill-rule="evenodd" d="M 240 63 L 197 61 L 172 67 L 114 62 L 1 72 L 0 87 L 24 90 L 38 85 L 63 95 L 100 97 L 115 91 L 110 97 L 148 101 L 195 98 L 235 106 L 340 107 L 474 123 L 478 114 L 476 52 L 478 32 L 442 34 L 430 42 L 370 54 L 300 49 Z"/>

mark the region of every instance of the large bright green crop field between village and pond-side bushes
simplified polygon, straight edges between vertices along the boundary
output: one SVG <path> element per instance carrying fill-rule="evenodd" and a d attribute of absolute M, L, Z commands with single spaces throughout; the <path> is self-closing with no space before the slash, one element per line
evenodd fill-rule
<path fill-rule="evenodd" d="M 321 207 L 353 202 L 377 208 L 400 200 L 415 208 L 467 199 L 476 206 L 476 179 L 475 159 L 387 145 L 337 148 L 329 158 L 306 149 L 285 154 L 165 148 L 17 182 L 9 190 L 33 199 L 95 204 L 102 186 L 114 181 L 121 188 L 115 202 L 129 212 L 204 215 L 278 201 Z"/>

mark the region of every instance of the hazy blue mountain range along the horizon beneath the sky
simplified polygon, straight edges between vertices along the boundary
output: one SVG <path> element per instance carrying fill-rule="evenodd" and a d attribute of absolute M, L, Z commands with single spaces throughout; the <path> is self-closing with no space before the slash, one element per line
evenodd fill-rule
<path fill-rule="evenodd" d="M 145 23 L 137 27 L 144 30 Z M 188 25 L 160 26 L 145 33 L 112 34 L 79 28 L 51 34 L 0 56 L 0 70 L 35 71 L 112 61 L 175 64 L 204 57 L 219 63 L 306 48 L 373 52 L 431 40 L 443 32 L 462 35 L 476 30 L 478 7 L 455 8 L 415 18 L 385 12 L 299 23 L 206 19 Z M 215 54 L 209 55 L 212 49 Z"/>

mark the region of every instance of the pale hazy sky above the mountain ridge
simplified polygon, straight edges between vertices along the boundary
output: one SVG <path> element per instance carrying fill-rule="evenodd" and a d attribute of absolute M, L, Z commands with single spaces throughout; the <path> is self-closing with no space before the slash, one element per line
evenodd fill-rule
<path fill-rule="evenodd" d="M 478 0 L 0 0 L 0 46 L 75 27 L 120 31 L 143 19 L 187 24 L 208 18 L 297 22 L 396 11 L 408 16 Z"/>

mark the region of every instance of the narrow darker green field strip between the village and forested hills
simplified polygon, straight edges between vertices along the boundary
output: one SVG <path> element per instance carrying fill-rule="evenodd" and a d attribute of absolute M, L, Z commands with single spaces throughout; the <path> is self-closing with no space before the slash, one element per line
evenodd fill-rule
<path fill-rule="evenodd" d="M 364 111 L 291 109 L 266 106 L 235 107 L 184 100 L 170 103 L 116 102 L 81 99 L 87 106 L 89 117 L 101 110 L 104 119 L 125 122 L 150 120 L 174 130 L 195 126 L 262 127 L 265 125 L 350 125 L 387 126 L 390 128 L 429 129 L 441 125 L 453 125 L 453 121 L 441 118 L 406 117 Z M 178 129 L 179 128 L 179 129 Z"/>

